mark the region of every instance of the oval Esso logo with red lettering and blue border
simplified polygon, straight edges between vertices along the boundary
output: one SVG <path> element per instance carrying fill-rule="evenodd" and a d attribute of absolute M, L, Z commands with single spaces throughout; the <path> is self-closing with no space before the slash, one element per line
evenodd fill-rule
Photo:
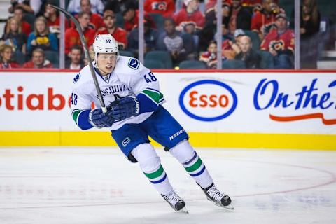
<path fill-rule="evenodd" d="M 202 121 L 221 120 L 237 107 L 237 95 L 225 83 L 200 80 L 188 85 L 180 94 L 181 109 L 191 118 Z"/>

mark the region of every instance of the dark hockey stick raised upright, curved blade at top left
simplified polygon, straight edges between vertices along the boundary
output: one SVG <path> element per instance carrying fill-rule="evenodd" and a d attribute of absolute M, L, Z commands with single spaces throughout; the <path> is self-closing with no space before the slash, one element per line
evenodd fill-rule
<path fill-rule="evenodd" d="M 82 42 L 82 45 L 83 45 L 83 48 L 84 48 L 84 51 L 85 51 L 85 55 L 87 57 L 87 60 L 89 61 L 89 67 L 90 67 L 91 75 L 92 75 L 92 78 L 93 78 L 94 86 L 96 87 L 96 90 L 97 90 L 100 105 L 102 106 L 102 111 L 104 113 L 106 113 L 107 109 L 106 109 L 106 106 L 105 106 L 105 103 L 104 103 L 104 100 L 103 100 L 103 97 L 102 97 L 102 93 L 100 92 L 100 87 L 99 87 L 98 80 L 97 80 L 97 77 L 96 77 L 96 74 L 94 72 L 94 68 L 93 68 L 93 65 L 92 65 L 92 59 L 90 57 L 89 48 L 87 48 L 87 43 L 85 41 L 85 37 L 84 37 L 84 34 L 83 34 L 82 27 L 80 27 L 80 23 L 78 22 L 78 20 L 76 18 L 73 17 L 73 15 L 71 15 L 69 12 L 64 10 L 64 8 L 59 8 L 57 6 L 53 6 L 53 5 L 50 5 L 50 4 L 48 4 L 48 6 L 50 6 L 52 8 L 55 8 L 55 9 L 61 11 L 62 13 L 64 13 L 65 15 L 69 16 L 69 18 L 76 25 L 76 28 L 78 30 L 78 34 L 79 34 L 79 37 L 80 37 L 80 41 Z"/>

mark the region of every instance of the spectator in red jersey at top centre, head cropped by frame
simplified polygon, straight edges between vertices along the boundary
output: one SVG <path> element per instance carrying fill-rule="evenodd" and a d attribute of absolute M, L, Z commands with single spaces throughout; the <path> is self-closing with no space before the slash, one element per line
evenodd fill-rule
<path fill-rule="evenodd" d="M 173 0 L 146 0 L 144 3 L 146 13 L 158 13 L 163 17 L 172 17 L 175 12 Z"/>

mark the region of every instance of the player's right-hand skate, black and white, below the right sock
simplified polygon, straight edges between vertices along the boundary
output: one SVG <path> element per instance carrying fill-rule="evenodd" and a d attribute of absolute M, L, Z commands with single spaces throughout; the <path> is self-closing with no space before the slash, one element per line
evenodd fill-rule
<path fill-rule="evenodd" d="M 230 197 L 219 191 L 214 183 L 212 183 L 207 189 L 202 188 L 202 190 L 207 196 L 207 199 L 214 202 L 217 206 L 225 209 L 233 209 Z"/>

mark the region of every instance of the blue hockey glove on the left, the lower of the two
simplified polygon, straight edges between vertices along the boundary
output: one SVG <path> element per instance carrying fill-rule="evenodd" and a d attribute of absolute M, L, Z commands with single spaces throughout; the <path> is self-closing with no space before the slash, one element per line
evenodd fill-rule
<path fill-rule="evenodd" d="M 93 127 L 111 127 L 114 123 L 112 111 L 103 113 L 102 109 L 94 109 L 89 113 L 89 123 Z"/>

